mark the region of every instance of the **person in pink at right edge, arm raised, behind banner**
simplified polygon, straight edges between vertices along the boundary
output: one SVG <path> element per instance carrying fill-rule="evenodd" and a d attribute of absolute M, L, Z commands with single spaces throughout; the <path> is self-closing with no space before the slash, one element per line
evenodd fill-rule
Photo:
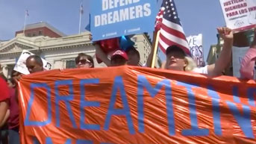
<path fill-rule="evenodd" d="M 245 57 L 243 57 L 241 66 L 240 66 L 240 75 L 241 78 L 253 79 L 254 69 L 255 69 L 255 60 L 256 60 L 256 27 L 254 40 L 249 50 L 246 52 Z"/>

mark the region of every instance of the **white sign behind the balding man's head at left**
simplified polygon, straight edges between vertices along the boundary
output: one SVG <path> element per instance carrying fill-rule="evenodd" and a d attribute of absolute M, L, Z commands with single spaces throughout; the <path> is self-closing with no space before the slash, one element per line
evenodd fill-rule
<path fill-rule="evenodd" d="M 20 72 L 24 75 L 28 75 L 28 68 L 26 66 L 26 60 L 29 56 L 34 55 L 31 51 L 23 50 L 22 54 L 19 56 L 19 60 L 17 61 L 16 65 L 14 66 L 14 70 Z M 43 58 L 43 69 L 49 70 L 51 69 L 51 63 L 47 62 Z"/>

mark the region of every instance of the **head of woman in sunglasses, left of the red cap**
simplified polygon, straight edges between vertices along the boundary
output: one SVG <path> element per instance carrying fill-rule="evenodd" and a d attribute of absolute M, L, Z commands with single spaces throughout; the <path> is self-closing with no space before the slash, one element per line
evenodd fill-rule
<path fill-rule="evenodd" d="M 84 53 L 75 57 L 75 64 L 77 68 L 94 68 L 93 57 Z"/>

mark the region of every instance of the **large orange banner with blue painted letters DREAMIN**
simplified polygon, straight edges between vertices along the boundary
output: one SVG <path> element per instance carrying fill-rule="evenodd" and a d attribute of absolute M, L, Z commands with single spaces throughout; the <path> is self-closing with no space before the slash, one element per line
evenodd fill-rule
<path fill-rule="evenodd" d="M 19 93 L 23 144 L 256 140 L 255 81 L 122 66 L 26 75 Z"/>

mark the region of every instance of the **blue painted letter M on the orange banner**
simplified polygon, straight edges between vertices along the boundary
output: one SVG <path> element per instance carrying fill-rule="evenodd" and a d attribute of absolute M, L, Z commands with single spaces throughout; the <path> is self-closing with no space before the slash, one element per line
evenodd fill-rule
<path fill-rule="evenodd" d="M 154 98 L 162 87 L 165 87 L 166 91 L 166 107 L 167 107 L 167 119 L 169 127 L 169 135 L 175 135 L 175 120 L 172 106 L 172 89 L 170 87 L 169 80 L 163 80 L 156 84 L 153 88 L 149 81 L 147 81 L 144 75 L 138 75 L 138 91 L 137 91 L 137 101 L 138 101 L 138 124 L 140 133 L 145 132 L 144 128 L 144 102 L 143 93 L 144 87 L 148 90 L 150 96 Z"/>

